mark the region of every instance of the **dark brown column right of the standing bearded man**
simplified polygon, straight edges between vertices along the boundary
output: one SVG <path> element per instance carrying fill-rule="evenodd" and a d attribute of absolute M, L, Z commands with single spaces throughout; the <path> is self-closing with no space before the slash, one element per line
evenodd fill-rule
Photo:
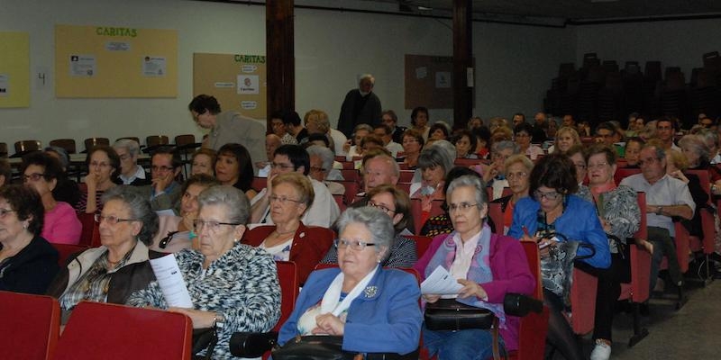
<path fill-rule="evenodd" d="M 453 0 L 453 129 L 465 128 L 473 113 L 473 88 L 467 81 L 467 69 L 473 67 L 471 13 L 471 0 Z"/>

